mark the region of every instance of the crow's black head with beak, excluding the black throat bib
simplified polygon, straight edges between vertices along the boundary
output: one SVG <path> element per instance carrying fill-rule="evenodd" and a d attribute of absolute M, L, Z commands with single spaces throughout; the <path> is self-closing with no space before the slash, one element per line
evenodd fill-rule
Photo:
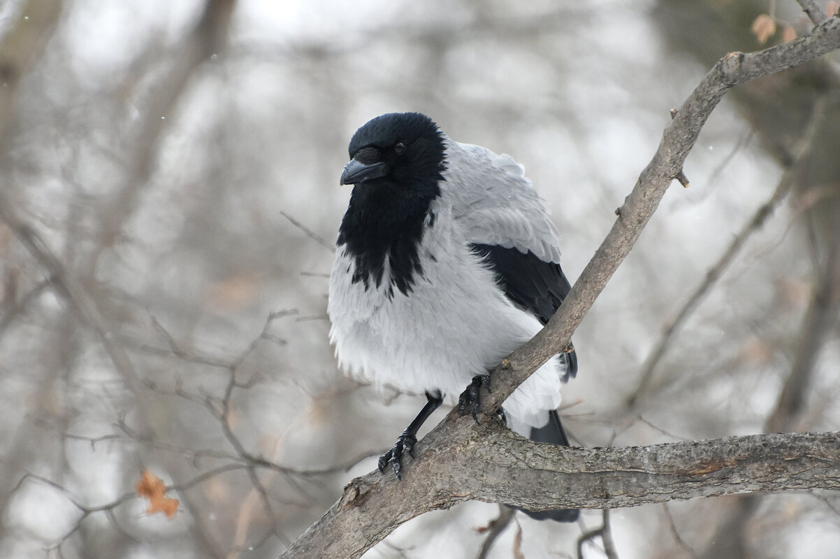
<path fill-rule="evenodd" d="M 383 114 L 353 134 L 341 184 L 434 190 L 446 169 L 444 151 L 443 134 L 431 118 L 419 112 Z"/>

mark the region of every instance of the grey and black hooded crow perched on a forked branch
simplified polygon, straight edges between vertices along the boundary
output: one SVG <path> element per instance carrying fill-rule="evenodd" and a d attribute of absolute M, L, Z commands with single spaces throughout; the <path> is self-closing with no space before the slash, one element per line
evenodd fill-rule
<path fill-rule="evenodd" d="M 545 202 L 510 155 L 456 142 L 423 113 L 392 112 L 354 133 L 349 156 L 340 184 L 353 189 L 329 279 L 329 338 L 350 377 L 425 394 L 378 462 L 402 478 L 428 416 L 445 401 L 478 421 L 488 372 L 549 321 L 571 286 Z M 570 444 L 557 413 L 561 381 L 577 374 L 569 349 L 502 404 L 500 415 L 534 441 Z"/>

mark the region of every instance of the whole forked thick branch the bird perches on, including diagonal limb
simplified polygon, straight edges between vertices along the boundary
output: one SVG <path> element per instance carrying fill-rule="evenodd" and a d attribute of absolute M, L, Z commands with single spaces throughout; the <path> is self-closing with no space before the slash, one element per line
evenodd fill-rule
<path fill-rule="evenodd" d="M 501 402 L 569 343 L 680 173 L 723 95 L 744 81 L 838 48 L 840 18 L 835 17 L 804 38 L 719 60 L 665 129 L 654 159 L 557 314 L 493 372 L 493 392 L 482 402 L 482 425 L 450 413 L 418 443 L 417 460 L 407 463 L 402 482 L 378 472 L 355 479 L 281 557 L 358 557 L 414 516 L 468 499 L 527 509 L 603 509 L 722 494 L 840 488 L 836 434 L 584 449 L 525 441 L 493 420 Z"/>

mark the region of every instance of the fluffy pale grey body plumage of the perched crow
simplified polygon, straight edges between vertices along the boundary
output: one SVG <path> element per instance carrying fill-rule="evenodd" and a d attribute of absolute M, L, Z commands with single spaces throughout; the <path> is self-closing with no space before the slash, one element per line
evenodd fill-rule
<path fill-rule="evenodd" d="M 423 220 L 411 290 L 393 288 L 387 259 L 379 285 L 354 281 L 360 264 L 339 246 L 328 311 L 339 363 L 355 379 L 410 394 L 438 392 L 454 403 L 472 377 L 543 327 L 507 298 L 470 245 L 530 250 L 554 263 L 559 248 L 542 199 L 512 158 L 449 138 L 444 143 L 447 169 Z M 543 426 L 560 403 L 565 374 L 559 358 L 546 363 L 506 401 L 507 414 Z"/>

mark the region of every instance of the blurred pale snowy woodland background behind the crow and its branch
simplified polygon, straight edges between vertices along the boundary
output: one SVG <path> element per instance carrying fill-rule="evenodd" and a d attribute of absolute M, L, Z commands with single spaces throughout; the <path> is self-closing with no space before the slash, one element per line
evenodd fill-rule
<path fill-rule="evenodd" d="M 775 4 L 0 4 L 0 557 L 275 556 L 425 401 L 344 379 L 328 346 L 355 129 L 419 111 L 512 154 L 574 282 L 713 60 L 761 48 L 759 13 L 806 32 L 792 0 Z M 806 72 L 821 86 L 795 89 L 804 78 L 789 73 L 713 113 L 690 187 L 671 186 L 575 333 L 580 374 L 561 409 L 575 444 L 766 429 L 801 372 L 840 229 L 832 56 Z M 664 328 L 784 180 L 790 194 L 645 376 Z M 791 430 L 840 423 L 836 306 L 828 318 Z M 144 471 L 173 487 L 171 520 L 145 512 Z M 476 557 L 498 515 L 423 515 L 366 557 Z M 517 514 L 487 556 L 575 556 L 600 524 L 600 511 L 573 525 Z M 840 502 L 649 505 L 613 511 L 612 530 L 622 559 L 833 557 Z M 584 556 L 603 556 L 594 544 Z"/>

